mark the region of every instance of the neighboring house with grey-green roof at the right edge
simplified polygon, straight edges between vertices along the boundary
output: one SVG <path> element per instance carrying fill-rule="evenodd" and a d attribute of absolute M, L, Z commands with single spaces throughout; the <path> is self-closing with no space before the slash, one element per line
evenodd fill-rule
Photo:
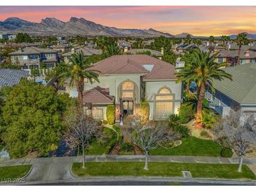
<path fill-rule="evenodd" d="M 256 114 L 256 64 L 243 64 L 223 69 L 233 81 L 224 78 L 213 81 L 215 93 L 206 91 L 206 99 L 218 114 L 226 116 L 231 109 Z"/>

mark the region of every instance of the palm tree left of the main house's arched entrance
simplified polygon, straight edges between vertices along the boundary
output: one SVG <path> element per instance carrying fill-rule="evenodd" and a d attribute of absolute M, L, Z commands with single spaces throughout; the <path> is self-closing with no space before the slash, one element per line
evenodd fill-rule
<path fill-rule="evenodd" d="M 93 64 L 88 63 L 88 57 L 84 56 L 80 51 L 79 53 L 72 54 L 70 62 L 66 64 L 66 71 L 63 71 L 59 76 L 60 84 L 63 85 L 65 81 L 70 78 L 69 87 L 73 88 L 76 85 L 76 90 L 79 92 L 79 111 L 83 112 L 83 90 L 84 79 L 87 78 L 90 83 L 93 81 L 100 82 L 98 79 L 98 72 L 93 69 Z"/>

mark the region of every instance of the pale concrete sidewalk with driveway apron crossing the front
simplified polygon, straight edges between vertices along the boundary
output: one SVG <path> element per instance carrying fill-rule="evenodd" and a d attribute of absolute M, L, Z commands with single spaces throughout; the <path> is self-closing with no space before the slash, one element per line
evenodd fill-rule
<path fill-rule="evenodd" d="M 196 157 L 196 156 L 149 156 L 149 161 L 170 163 L 238 163 L 238 158 Z M 4 160 L 0 166 L 33 165 L 27 181 L 56 181 L 75 179 L 69 168 L 72 163 L 81 162 L 81 157 L 19 158 Z M 89 162 L 144 161 L 144 156 L 86 156 Z M 256 165 L 256 159 L 244 160 L 247 165 Z"/>

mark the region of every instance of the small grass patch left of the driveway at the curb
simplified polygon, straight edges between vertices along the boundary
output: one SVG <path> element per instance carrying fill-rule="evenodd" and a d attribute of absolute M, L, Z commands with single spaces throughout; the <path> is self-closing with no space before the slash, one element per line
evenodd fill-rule
<path fill-rule="evenodd" d="M 29 172 L 32 165 L 15 165 L 0 167 L 0 181 L 3 179 L 11 178 L 21 178 L 24 177 L 27 172 Z"/>

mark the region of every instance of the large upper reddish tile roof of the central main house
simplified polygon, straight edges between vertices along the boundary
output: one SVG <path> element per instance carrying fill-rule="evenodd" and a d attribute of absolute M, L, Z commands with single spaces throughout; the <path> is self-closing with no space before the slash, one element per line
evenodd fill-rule
<path fill-rule="evenodd" d="M 145 65 L 152 65 L 146 69 Z M 149 55 L 114 55 L 96 62 L 92 69 L 100 74 L 145 74 L 144 79 L 175 79 L 173 64 Z"/>

